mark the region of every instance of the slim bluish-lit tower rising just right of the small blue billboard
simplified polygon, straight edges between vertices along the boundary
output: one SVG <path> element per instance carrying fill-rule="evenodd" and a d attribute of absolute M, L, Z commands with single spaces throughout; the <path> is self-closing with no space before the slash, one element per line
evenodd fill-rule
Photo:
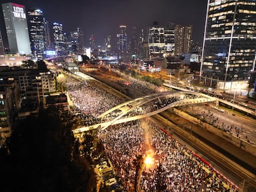
<path fill-rule="evenodd" d="M 53 23 L 53 39 L 55 51 L 57 51 L 59 55 L 64 54 L 65 36 L 63 32 L 63 26 L 61 23 Z"/>

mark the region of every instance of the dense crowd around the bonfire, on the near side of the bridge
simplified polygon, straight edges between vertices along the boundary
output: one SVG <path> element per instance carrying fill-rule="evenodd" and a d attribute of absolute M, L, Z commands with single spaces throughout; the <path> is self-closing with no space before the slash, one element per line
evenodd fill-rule
<path fill-rule="evenodd" d="M 149 149 L 154 151 L 155 166 L 150 169 L 143 166 L 140 191 L 157 191 L 159 185 L 166 186 L 163 191 L 238 191 L 153 123 L 137 120 L 113 125 L 99 134 L 105 135 L 100 136 L 101 141 L 125 191 L 134 191 L 135 160 Z"/>

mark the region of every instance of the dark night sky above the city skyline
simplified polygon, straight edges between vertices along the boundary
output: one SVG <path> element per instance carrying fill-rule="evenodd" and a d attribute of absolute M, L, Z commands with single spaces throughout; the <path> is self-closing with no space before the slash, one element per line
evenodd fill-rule
<path fill-rule="evenodd" d="M 91 35 L 95 43 L 102 45 L 106 35 L 113 38 L 119 33 L 119 25 L 127 25 L 127 29 L 147 28 L 155 21 L 167 25 L 169 21 L 179 25 L 192 25 L 192 39 L 202 45 L 207 0 L 17 0 L 14 2 L 29 8 L 41 9 L 50 27 L 53 22 L 63 24 L 64 32 L 82 28 L 85 46 L 89 44 Z M 5 24 L 0 12 L 0 27 L 7 44 Z M 128 31 L 129 35 L 129 31 Z M 129 38 L 129 36 L 128 36 Z"/>

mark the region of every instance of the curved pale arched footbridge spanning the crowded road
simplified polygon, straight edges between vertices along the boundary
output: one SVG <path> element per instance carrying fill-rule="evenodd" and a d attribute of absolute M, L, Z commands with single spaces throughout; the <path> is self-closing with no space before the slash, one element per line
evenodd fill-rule
<path fill-rule="evenodd" d="M 171 107 L 213 101 L 218 102 L 217 98 L 194 91 L 166 91 L 150 94 L 142 98 L 124 102 L 109 109 L 96 117 L 93 121 L 95 122 L 93 125 L 85 125 L 84 127 L 76 128 L 73 130 L 73 133 L 82 133 L 95 128 L 105 130 L 110 125 L 150 117 Z"/>

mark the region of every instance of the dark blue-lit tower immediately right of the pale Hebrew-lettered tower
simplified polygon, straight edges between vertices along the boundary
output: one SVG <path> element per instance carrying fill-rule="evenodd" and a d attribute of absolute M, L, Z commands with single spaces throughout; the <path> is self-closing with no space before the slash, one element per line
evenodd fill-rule
<path fill-rule="evenodd" d="M 28 26 L 32 54 L 42 57 L 46 50 L 45 18 L 39 9 L 28 10 Z"/>

